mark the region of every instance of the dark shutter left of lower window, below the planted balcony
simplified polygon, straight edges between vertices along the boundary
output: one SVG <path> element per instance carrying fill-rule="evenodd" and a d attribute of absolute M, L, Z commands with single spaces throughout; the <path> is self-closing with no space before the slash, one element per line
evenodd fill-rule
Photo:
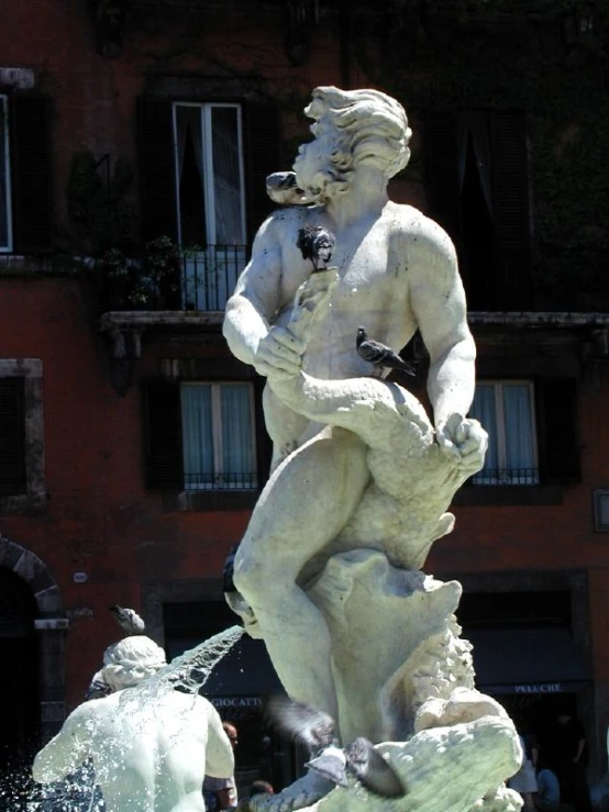
<path fill-rule="evenodd" d="M 146 485 L 184 488 L 180 390 L 177 381 L 153 380 L 144 387 Z"/>

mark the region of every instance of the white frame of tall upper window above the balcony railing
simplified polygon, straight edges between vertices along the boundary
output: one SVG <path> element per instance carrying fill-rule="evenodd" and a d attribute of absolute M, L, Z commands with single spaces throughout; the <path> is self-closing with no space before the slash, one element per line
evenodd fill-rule
<path fill-rule="evenodd" d="M 241 188 L 241 234 L 243 245 L 246 242 L 245 225 L 245 167 L 243 163 L 243 111 L 241 104 L 229 102 L 189 102 L 175 101 L 173 104 L 173 129 L 174 129 L 174 178 L 176 183 L 176 209 L 177 209 L 177 234 L 178 244 L 181 240 L 181 211 L 179 201 L 179 160 L 178 160 L 178 130 L 177 109 L 179 107 L 199 108 L 201 111 L 201 154 L 203 157 L 203 196 L 206 201 L 206 237 L 208 245 L 217 245 L 215 205 L 213 199 L 213 155 L 211 151 L 211 114 L 217 108 L 231 108 L 236 110 L 237 148 L 239 148 L 239 182 Z M 182 246 L 188 247 L 188 246 Z"/>

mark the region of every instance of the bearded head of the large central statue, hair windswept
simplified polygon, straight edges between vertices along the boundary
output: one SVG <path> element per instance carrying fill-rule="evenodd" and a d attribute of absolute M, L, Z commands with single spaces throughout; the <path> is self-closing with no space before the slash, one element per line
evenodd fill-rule
<path fill-rule="evenodd" d="M 298 186 L 319 202 L 348 191 L 358 166 L 388 180 L 408 164 L 406 111 L 380 90 L 315 88 L 304 113 L 315 141 L 300 147 L 294 169 Z"/>

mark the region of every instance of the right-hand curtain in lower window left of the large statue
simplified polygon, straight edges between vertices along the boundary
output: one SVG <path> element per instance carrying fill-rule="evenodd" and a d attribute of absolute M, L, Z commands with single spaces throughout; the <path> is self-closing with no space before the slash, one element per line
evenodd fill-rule
<path fill-rule="evenodd" d="M 248 383 L 224 383 L 222 401 L 222 470 L 229 487 L 255 487 Z"/>

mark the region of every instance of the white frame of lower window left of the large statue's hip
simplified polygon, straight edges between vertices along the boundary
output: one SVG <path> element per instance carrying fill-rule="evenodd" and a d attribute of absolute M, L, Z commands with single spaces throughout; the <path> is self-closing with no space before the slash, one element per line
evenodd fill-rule
<path fill-rule="evenodd" d="M 252 471 L 241 471 L 241 474 L 251 474 L 250 481 L 230 485 L 226 478 L 232 475 L 223 470 L 223 447 L 222 447 L 222 387 L 245 386 L 247 387 L 250 400 L 250 431 L 252 437 Z M 255 490 L 258 487 L 257 471 L 257 448 L 256 448 L 256 420 L 255 420 L 255 400 L 254 387 L 250 381 L 243 380 L 200 380 L 200 381 L 182 381 L 180 385 L 180 410 L 181 410 L 181 392 L 186 387 L 210 387 L 211 388 L 211 425 L 213 442 L 213 482 L 199 482 L 196 485 L 187 481 L 188 471 L 184 471 L 184 489 L 187 492 L 201 490 Z M 182 441 L 184 442 L 184 441 Z"/>

